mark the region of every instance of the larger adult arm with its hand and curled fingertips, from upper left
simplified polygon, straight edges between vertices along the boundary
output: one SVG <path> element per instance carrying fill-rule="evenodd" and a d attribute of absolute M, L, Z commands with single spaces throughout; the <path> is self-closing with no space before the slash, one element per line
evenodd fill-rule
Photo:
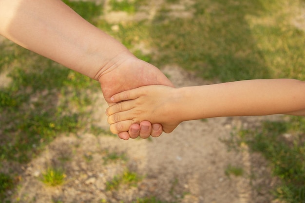
<path fill-rule="evenodd" d="M 143 85 L 172 83 L 156 67 L 137 59 L 61 0 L 0 0 L 0 35 L 100 82 L 105 100 Z M 129 131 L 128 131 L 129 130 Z M 160 124 L 133 124 L 122 139 L 159 136 Z"/>

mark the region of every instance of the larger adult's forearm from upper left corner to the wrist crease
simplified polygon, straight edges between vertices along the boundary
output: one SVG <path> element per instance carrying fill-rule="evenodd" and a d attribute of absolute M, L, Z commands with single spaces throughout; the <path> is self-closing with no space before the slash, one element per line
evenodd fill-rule
<path fill-rule="evenodd" d="M 133 57 L 61 0 L 0 0 L 0 22 L 4 37 L 96 80 L 115 63 Z"/>

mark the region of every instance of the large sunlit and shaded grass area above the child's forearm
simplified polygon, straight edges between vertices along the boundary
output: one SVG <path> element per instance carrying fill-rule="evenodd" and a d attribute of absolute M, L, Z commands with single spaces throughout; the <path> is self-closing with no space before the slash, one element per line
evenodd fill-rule
<path fill-rule="evenodd" d="M 150 29 L 151 44 L 160 51 L 153 62 L 221 81 L 304 79 L 304 32 L 292 25 L 284 2 L 197 1 L 194 18 L 171 20 L 162 10 Z"/>

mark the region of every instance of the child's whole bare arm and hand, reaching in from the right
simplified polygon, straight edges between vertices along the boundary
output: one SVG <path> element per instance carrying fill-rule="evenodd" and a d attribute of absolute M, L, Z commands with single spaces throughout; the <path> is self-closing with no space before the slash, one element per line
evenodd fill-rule
<path fill-rule="evenodd" d="M 143 120 L 166 133 L 179 123 L 220 116 L 289 114 L 305 116 L 305 82 L 294 79 L 245 80 L 206 86 L 140 87 L 111 97 L 125 100 L 106 111 L 112 132 Z"/>

